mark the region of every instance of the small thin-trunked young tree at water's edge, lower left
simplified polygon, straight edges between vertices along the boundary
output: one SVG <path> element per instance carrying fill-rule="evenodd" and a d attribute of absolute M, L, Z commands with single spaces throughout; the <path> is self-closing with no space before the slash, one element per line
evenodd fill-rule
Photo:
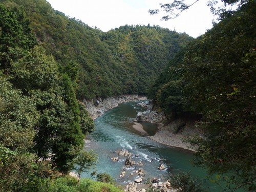
<path fill-rule="evenodd" d="M 89 172 L 89 170 L 96 164 L 97 156 L 91 151 L 81 151 L 73 160 L 73 169 L 78 173 L 78 183 L 80 181 L 81 174 L 83 172 Z"/>

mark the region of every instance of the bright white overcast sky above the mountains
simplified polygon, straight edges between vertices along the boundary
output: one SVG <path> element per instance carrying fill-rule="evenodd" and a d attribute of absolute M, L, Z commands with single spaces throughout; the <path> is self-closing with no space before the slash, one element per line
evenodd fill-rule
<path fill-rule="evenodd" d="M 161 21 L 163 12 L 150 15 L 149 9 L 159 8 L 160 3 L 172 0 L 47 0 L 53 9 L 76 17 L 90 27 L 97 27 L 107 32 L 124 25 L 159 25 L 162 28 L 186 32 L 198 37 L 211 29 L 214 16 L 206 6 L 206 1 L 198 1 L 181 16 L 168 21 Z M 192 0 L 188 0 L 192 1 Z M 192 1 L 193 2 L 193 1 Z"/>

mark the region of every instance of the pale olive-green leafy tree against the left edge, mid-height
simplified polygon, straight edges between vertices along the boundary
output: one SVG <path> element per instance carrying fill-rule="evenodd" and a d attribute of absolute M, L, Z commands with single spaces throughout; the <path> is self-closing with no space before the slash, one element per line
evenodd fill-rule
<path fill-rule="evenodd" d="M 38 112 L 29 98 L 2 76 L 0 88 L 0 144 L 12 151 L 26 151 L 33 146 Z"/>

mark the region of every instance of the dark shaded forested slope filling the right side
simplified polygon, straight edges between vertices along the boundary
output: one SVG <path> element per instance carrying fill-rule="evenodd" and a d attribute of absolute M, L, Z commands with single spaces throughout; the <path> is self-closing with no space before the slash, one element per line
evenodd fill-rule
<path fill-rule="evenodd" d="M 189 42 L 150 89 L 170 119 L 200 114 L 196 164 L 226 191 L 255 190 L 256 3 Z"/>

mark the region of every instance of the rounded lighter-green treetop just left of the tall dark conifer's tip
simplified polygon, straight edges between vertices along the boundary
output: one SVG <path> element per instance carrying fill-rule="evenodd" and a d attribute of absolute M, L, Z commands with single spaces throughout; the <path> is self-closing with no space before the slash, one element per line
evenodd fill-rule
<path fill-rule="evenodd" d="M 47 91 L 58 83 L 58 71 L 52 56 L 35 46 L 23 58 L 12 62 L 11 81 L 24 94 L 31 90 Z"/>

